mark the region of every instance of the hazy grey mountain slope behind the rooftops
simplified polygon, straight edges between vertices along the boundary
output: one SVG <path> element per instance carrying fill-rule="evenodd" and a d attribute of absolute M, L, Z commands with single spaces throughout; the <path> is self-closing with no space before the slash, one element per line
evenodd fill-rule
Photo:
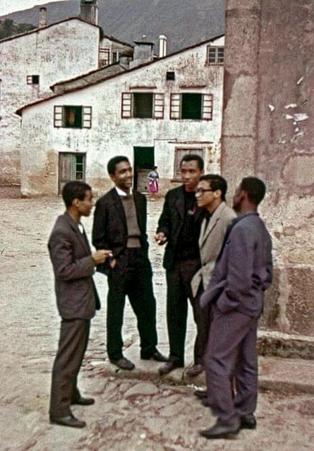
<path fill-rule="evenodd" d="M 133 43 L 142 35 L 155 42 L 167 36 L 167 53 L 224 33 L 224 0 L 98 0 L 99 25 L 106 35 Z M 47 23 L 78 16 L 79 0 L 52 1 Z M 1 16 L 38 25 L 39 6 Z"/>

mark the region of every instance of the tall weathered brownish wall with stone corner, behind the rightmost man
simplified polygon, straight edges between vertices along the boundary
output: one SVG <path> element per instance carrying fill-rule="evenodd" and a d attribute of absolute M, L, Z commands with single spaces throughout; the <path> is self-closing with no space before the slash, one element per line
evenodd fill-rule
<path fill-rule="evenodd" d="M 227 0 L 222 173 L 267 183 L 274 284 L 262 327 L 314 335 L 314 3 Z"/>

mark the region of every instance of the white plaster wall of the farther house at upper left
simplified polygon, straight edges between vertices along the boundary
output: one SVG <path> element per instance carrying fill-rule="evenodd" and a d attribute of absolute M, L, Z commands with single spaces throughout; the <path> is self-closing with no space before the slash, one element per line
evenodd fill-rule
<path fill-rule="evenodd" d="M 49 86 L 98 66 L 99 28 L 77 19 L 0 42 L 0 184 L 20 181 L 20 117 L 16 109 L 52 95 Z M 26 76 L 40 75 L 39 85 Z"/>

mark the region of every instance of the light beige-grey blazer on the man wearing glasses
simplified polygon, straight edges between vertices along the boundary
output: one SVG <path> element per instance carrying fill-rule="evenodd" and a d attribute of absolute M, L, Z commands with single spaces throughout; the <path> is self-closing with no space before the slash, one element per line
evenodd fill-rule
<path fill-rule="evenodd" d="M 200 284 L 202 284 L 204 290 L 210 283 L 212 270 L 222 248 L 227 227 L 235 217 L 234 210 L 227 207 L 225 202 L 222 202 L 213 212 L 208 224 L 206 220 L 203 220 L 198 240 L 202 267 L 195 273 L 191 282 L 193 296 L 198 293 Z"/>

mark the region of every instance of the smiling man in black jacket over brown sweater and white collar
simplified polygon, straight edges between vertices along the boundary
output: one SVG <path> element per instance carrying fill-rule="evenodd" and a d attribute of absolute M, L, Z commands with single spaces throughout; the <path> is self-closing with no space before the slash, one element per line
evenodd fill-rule
<path fill-rule="evenodd" d="M 107 352 L 119 368 L 133 370 L 122 353 L 121 329 L 126 295 L 138 320 L 141 359 L 166 361 L 157 350 L 156 301 L 146 234 L 147 200 L 131 191 L 133 171 L 128 158 L 111 158 L 107 169 L 115 187 L 96 203 L 92 243 L 112 249 L 113 258 L 97 268 L 108 277 Z"/>

